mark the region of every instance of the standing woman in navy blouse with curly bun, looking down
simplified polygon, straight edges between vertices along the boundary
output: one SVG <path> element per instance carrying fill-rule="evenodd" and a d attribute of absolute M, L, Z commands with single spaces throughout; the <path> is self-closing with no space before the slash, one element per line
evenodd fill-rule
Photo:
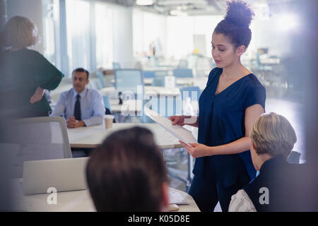
<path fill-rule="evenodd" d="M 230 198 L 256 175 L 249 152 L 249 131 L 265 109 L 265 88 L 242 65 L 251 40 L 254 13 L 242 1 L 228 2 L 224 20 L 212 35 L 216 61 L 199 99 L 199 117 L 172 116 L 172 124 L 198 126 L 198 142 L 184 148 L 196 158 L 189 194 L 201 211 L 218 201 L 228 211 Z"/>

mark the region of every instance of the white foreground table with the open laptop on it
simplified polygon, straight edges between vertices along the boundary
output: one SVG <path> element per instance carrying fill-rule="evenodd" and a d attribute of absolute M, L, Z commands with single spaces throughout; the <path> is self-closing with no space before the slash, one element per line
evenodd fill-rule
<path fill-rule="evenodd" d="M 47 197 L 50 194 L 23 195 L 22 179 L 13 179 L 11 184 L 13 206 L 16 211 L 24 212 L 95 212 L 95 206 L 88 189 L 81 191 L 64 191 L 57 193 L 57 204 L 49 205 Z M 178 205 L 179 212 L 199 212 L 192 196 L 170 188 L 184 198 L 188 205 Z"/>

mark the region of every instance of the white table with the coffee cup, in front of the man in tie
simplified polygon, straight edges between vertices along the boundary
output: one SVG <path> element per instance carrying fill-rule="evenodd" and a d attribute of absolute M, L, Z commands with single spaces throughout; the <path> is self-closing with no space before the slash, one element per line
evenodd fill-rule
<path fill-rule="evenodd" d="M 88 127 L 67 129 L 71 148 L 96 148 L 104 141 L 106 136 L 120 129 L 128 129 L 133 126 L 141 126 L 153 132 L 155 142 L 160 148 L 181 148 L 179 140 L 171 133 L 155 123 L 114 123 L 112 129 L 105 129 L 105 124 Z M 194 128 L 194 137 L 197 137 L 197 128 Z"/>

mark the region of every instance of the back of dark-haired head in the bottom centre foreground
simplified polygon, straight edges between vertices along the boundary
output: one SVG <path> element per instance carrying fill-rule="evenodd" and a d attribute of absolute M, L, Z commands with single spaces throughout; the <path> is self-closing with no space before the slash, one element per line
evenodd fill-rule
<path fill-rule="evenodd" d="M 116 131 L 93 151 L 86 168 L 98 211 L 160 211 L 167 173 L 153 133 L 134 127 Z"/>

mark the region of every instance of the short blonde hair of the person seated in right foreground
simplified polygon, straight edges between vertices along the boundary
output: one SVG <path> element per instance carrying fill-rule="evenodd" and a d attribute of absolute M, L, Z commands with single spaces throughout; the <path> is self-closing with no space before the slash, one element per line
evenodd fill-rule
<path fill-rule="evenodd" d="M 297 141 L 295 130 L 289 121 L 273 112 L 261 114 L 249 136 L 258 155 L 283 155 L 285 159 Z"/>

